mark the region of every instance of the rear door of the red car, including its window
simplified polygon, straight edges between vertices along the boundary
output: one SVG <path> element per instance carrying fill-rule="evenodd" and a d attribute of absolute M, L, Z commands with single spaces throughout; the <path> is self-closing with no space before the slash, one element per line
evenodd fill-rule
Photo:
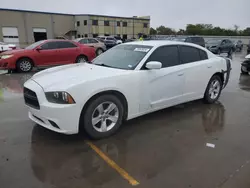
<path fill-rule="evenodd" d="M 59 45 L 59 61 L 58 64 L 75 63 L 76 58 L 80 55 L 80 50 L 77 45 L 70 41 L 58 41 Z"/>

